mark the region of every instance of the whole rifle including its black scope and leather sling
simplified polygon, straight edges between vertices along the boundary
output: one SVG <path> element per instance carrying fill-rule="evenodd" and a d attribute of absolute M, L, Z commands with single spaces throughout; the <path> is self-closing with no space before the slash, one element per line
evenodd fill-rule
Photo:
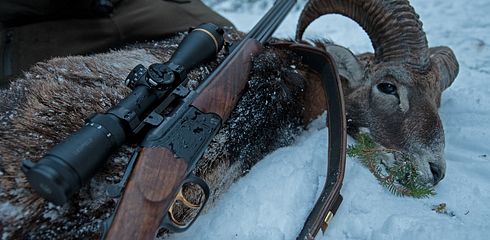
<path fill-rule="evenodd" d="M 183 84 L 176 86 L 178 83 L 185 82 L 186 73 L 192 67 L 204 59 L 214 56 L 214 50 L 217 52 L 221 49 L 223 45 L 221 40 L 222 30 L 213 26 L 201 26 L 189 34 L 188 37 L 193 34 L 196 36 L 198 33 L 201 34 L 201 45 L 196 44 L 200 46 L 199 48 L 183 47 L 187 46 L 184 44 L 186 41 L 184 40 L 169 62 L 152 65 L 148 70 L 143 66 L 137 66 L 126 79 L 127 84 L 134 89 L 130 97 L 123 100 L 108 113 L 98 114 L 90 118 L 87 125 L 83 128 L 84 130 L 75 134 L 75 136 L 78 136 L 74 137 L 77 141 L 70 138 L 66 141 L 68 143 L 57 146 L 38 164 L 24 161 L 23 170 L 26 172 L 31 185 L 46 199 L 62 204 L 93 176 L 95 170 L 100 167 L 114 149 L 120 147 L 127 139 L 132 139 L 143 132 L 146 133 L 147 131 L 143 131 L 143 129 L 152 128 L 143 143 L 140 144 L 142 149 L 133 154 L 123 180 L 114 188 L 109 189 L 111 195 L 115 197 L 119 196 L 122 189 L 125 188 L 126 191 L 117 207 L 116 214 L 109 220 L 112 225 L 106 232 L 107 236 L 109 238 L 113 236 L 111 231 L 119 231 L 121 229 L 140 234 L 138 232 L 140 229 L 131 230 L 134 228 L 129 228 L 133 225 L 140 225 L 140 227 L 146 229 L 151 228 L 142 233 L 145 235 L 137 235 L 136 237 L 154 235 L 159 227 L 165 227 L 173 231 L 187 229 L 199 215 L 209 196 L 209 188 L 206 183 L 192 175 L 193 168 L 221 123 L 228 118 L 231 109 L 233 109 L 245 89 L 248 76 L 236 77 L 233 74 L 248 73 L 252 55 L 260 50 L 259 43 L 265 43 L 268 40 L 294 4 L 294 1 L 290 1 L 290 3 L 282 2 L 286 1 L 276 2 L 274 8 L 266 14 L 264 19 L 238 46 L 233 48 L 234 50 L 227 56 L 225 61 L 196 91 L 185 89 Z M 279 9 L 281 3 L 288 5 L 281 10 Z M 281 17 L 274 18 L 275 14 L 281 15 Z M 268 22 L 273 25 L 265 26 Z M 198 43 L 199 41 L 195 42 Z M 184 51 L 183 49 L 187 50 Z M 207 51 L 209 49 L 213 51 L 199 55 L 200 57 L 206 57 L 195 58 L 196 51 Z M 345 164 L 345 119 L 343 118 L 342 90 L 338 74 L 335 68 L 331 68 L 334 65 L 328 54 L 321 54 L 318 53 L 317 49 L 307 49 L 304 46 L 293 46 L 292 49 L 298 55 L 304 57 L 307 65 L 310 65 L 314 71 L 323 76 L 324 87 L 327 91 L 326 96 L 329 99 L 327 103 L 329 104 L 328 117 L 331 128 L 329 131 L 330 146 L 327 183 L 314 210 L 308 217 L 303 231 L 298 237 L 298 239 L 311 239 L 320 228 L 325 230 L 342 199 L 339 195 L 339 190 Z M 185 52 L 183 54 L 185 57 L 175 57 L 180 52 Z M 176 61 L 174 58 L 183 60 Z M 237 62 L 240 64 L 239 67 L 236 65 Z M 232 82 L 225 81 L 225 77 L 231 79 Z M 331 86 L 334 86 L 334 88 L 331 88 Z M 333 92 L 329 91 L 329 89 L 332 89 Z M 136 106 L 138 108 L 135 108 Z M 163 113 L 170 108 L 173 108 L 172 112 L 163 116 Z M 182 119 L 187 122 L 187 125 L 184 122 L 179 122 Z M 118 130 L 118 128 L 121 130 Z M 332 129 L 335 131 L 332 131 Z M 90 132 L 90 134 L 87 132 Z M 87 136 L 96 140 L 87 138 Z M 114 136 L 117 136 L 115 138 L 117 141 L 114 141 Z M 192 141 L 197 138 L 199 141 Z M 65 148 L 66 146 L 71 147 Z M 163 160 L 151 161 L 153 160 L 152 158 L 158 156 L 163 157 Z M 70 161 L 70 159 L 74 160 Z M 89 167 L 83 167 L 82 164 L 86 164 L 87 159 L 92 159 L 91 162 L 94 164 L 89 165 Z M 168 165 L 162 166 L 165 164 Z M 80 166 L 82 167 L 79 168 Z M 161 170 L 159 167 L 174 167 L 176 171 Z M 142 173 L 143 171 L 146 172 Z M 146 183 L 146 181 L 149 183 Z M 163 182 L 161 184 L 163 188 L 153 189 L 155 185 L 158 185 L 158 181 Z M 183 196 L 182 187 L 189 183 L 201 188 L 204 200 L 191 203 Z M 169 185 L 172 186 L 168 188 Z M 131 189 L 133 192 L 130 191 Z M 131 199 L 131 197 L 135 197 L 138 194 L 140 195 L 139 199 Z M 133 202 L 130 200 L 133 200 Z M 172 210 L 175 202 L 181 202 L 189 208 L 198 210 L 195 218 L 190 223 L 182 224 L 176 220 Z M 137 209 L 137 212 L 123 211 L 121 210 L 123 208 L 129 210 Z M 145 216 L 144 211 L 151 214 Z M 121 212 L 123 213 L 121 214 Z M 129 214 L 126 214 L 126 212 L 129 212 Z M 164 216 L 167 212 L 168 215 Z M 118 219 L 120 215 L 124 215 L 119 217 L 122 220 Z M 139 216 L 140 218 L 133 218 L 134 216 Z M 143 220 L 141 217 L 143 217 Z M 129 225 L 125 225 L 124 218 L 131 220 L 128 221 Z M 158 221 L 159 219 L 160 222 Z M 153 221 L 153 223 L 156 221 L 157 224 L 156 226 L 155 224 L 146 225 L 147 222 L 144 222 L 146 220 Z M 118 224 L 117 221 L 119 221 L 119 226 L 116 226 Z M 114 230 L 114 226 L 119 229 Z M 114 235 L 114 237 L 117 236 Z M 125 235 L 125 237 L 129 238 L 132 236 Z"/>

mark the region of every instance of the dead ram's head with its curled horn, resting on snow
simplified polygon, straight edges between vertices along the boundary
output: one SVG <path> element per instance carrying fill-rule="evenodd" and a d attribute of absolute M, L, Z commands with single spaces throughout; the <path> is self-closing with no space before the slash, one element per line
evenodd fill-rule
<path fill-rule="evenodd" d="M 408 0 L 311 0 L 303 10 L 296 38 L 324 14 L 356 21 L 371 39 L 374 54 L 323 46 L 343 77 L 351 134 L 366 128 L 373 140 L 394 150 L 391 161 L 414 161 L 421 180 L 444 178 L 444 130 L 437 112 L 442 92 L 458 74 L 448 47 L 429 48 L 422 22 Z"/>

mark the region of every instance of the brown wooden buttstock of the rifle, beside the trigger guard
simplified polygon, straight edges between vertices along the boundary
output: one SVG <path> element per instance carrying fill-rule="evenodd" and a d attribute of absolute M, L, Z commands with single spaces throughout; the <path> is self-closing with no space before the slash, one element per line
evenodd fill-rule
<path fill-rule="evenodd" d="M 143 148 L 106 239 L 154 239 L 181 183 L 187 162 L 167 148 Z"/>

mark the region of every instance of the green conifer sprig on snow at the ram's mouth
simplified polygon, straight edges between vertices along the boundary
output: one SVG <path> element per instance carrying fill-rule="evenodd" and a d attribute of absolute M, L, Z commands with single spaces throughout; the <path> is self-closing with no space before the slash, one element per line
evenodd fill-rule
<path fill-rule="evenodd" d="M 384 173 L 379 158 L 381 154 L 393 153 L 394 150 L 380 149 L 366 133 L 359 133 L 356 139 L 357 143 L 347 148 L 347 155 L 358 158 L 388 191 L 397 196 L 414 198 L 435 195 L 432 187 L 422 183 L 414 161 L 408 156 L 403 161 L 397 161 L 394 166 L 387 168 Z"/>

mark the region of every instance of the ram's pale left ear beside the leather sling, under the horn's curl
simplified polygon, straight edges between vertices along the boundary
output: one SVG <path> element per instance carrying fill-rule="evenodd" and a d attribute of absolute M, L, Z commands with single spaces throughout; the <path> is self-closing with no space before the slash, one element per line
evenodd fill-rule
<path fill-rule="evenodd" d="M 326 45 L 325 50 L 333 57 L 340 77 L 347 80 L 348 88 L 357 88 L 363 84 L 364 68 L 349 49 L 339 45 Z"/>

